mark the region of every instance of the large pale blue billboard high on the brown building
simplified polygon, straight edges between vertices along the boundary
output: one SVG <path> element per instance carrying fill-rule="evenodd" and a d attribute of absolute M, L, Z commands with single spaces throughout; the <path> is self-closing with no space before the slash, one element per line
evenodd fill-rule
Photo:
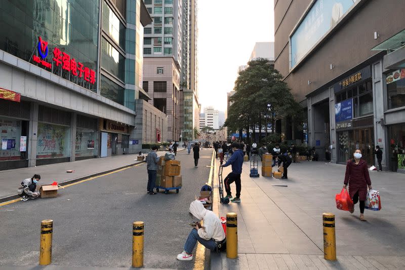
<path fill-rule="evenodd" d="M 359 0 L 315 0 L 291 35 L 291 68 L 358 2 Z"/>

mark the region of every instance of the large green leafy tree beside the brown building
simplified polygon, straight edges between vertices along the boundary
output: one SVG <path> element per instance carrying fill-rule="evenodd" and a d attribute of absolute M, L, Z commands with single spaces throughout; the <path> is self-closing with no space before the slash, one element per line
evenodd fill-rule
<path fill-rule="evenodd" d="M 281 74 L 268 64 L 267 59 L 250 61 L 235 81 L 235 94 L 230 98 L 233 103 L 224 124 L 228 131 L 245 129 L 249 137 L 249 128 L 253 132 L 258 128 L 261 133 L 262 127 L 266 129 L 269 123 L 274 134 L 278 119 L 293 119 L 299 126 L 303 121 L 302 108 L 281 79 Z"/>

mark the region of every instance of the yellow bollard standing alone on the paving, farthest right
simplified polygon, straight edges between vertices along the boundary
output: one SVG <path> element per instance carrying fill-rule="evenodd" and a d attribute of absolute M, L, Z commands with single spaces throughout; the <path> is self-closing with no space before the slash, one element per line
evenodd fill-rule
<path fill-rule="evenodd" d="M 323 213 L 323 254 L 326 260 L 336 260 L 335 215 Z"/>

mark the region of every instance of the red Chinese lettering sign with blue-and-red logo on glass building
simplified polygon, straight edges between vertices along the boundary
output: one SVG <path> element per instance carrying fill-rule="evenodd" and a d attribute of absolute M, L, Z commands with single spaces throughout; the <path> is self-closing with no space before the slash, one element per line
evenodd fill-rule
<path fill-rule="evenodd" d="M 38 54 L 39 56 L 33 55 L 32 60 L 35 63 L 41 64 L 42 66 L 51 69 L 52 63 L 47 61 L 48 56 L 48 42 L 44 41 L 41 36 L 38 36 Z M 96 71 L 84 66 L 82 63 L 77 62 L 76 59 L 70 57 L 65 52 L 61 52 L 58 47 L 55 47 L 52 51 L 53 63 L 56 66 L 61 66 L 62 69 L 69 71 L 72 75 L 83 78 L 86 82 L 94 85 L 96 82 Z"/>

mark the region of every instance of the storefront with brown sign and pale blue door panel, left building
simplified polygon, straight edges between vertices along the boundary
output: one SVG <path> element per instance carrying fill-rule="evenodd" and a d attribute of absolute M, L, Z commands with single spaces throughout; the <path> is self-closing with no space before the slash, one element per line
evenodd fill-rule
<path fill-rule="evenodd" d="M 101 119 L 100 131 L 101 158 L 123 155 L 129 152 L 130 126 Z"/>

